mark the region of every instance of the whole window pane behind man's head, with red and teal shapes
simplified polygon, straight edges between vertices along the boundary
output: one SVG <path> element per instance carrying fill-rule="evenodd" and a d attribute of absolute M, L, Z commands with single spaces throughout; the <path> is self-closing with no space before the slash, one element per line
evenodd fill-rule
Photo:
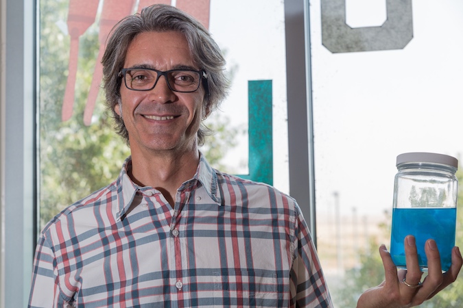
<path fill-rule="evenodd" d="M 64 207 L 113 181 L 130 154 L 104 109 L 99 61 L 112 25 L 160 2 L 209 27 L 228 63 L 230 94 L 206 120 L 217 132 L 202 148 L 206 157 L 216 168 L 288 192 L 282 1 L 40 0 L 39 229 Z M 202 10 L 195 10 L 198 5 Z M 269 149 L 259 148 L 261 140 L 270 151 L 259 151 Z M 261 152 L 267 160 L 259 169 L 268 172 L 258 175 L 253 155 Z"/>

